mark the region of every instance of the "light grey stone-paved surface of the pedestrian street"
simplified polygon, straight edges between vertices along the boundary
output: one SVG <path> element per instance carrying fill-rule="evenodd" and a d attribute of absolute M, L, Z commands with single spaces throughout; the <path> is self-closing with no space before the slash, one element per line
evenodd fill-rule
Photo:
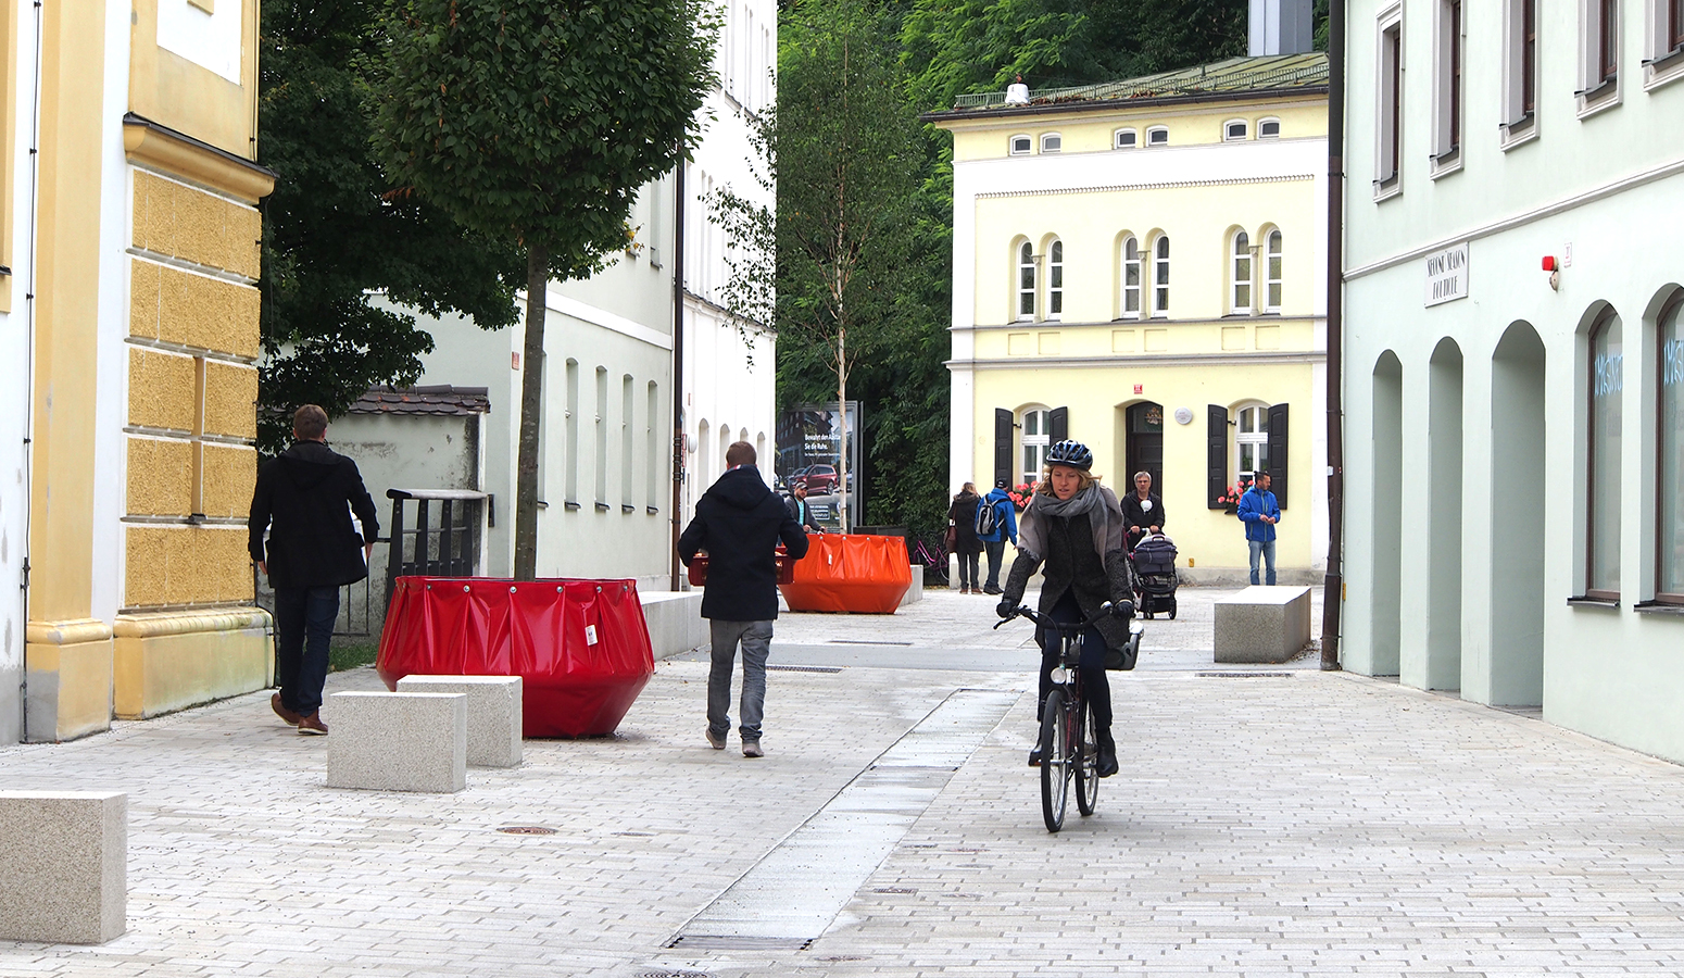
<path fill-rule="evenodd" d="M 965 598 L 943 598 L 925 613 L 951 614 L 953 641 L 1032 655 L 987 618 L 962 631 Z M 837 621 L 810 618 L 780 619 L 803 656 Z M 935 648 L 861 628 L 898 655 Z M 472 769 L 450 796 L 327 788 L 327 739 L 280 726 L 263 694 L 3 747 L 8 788 L 130 791 L 130 929 L 0 943 L 0 975 L 1684 971 L 1684 769 L 1394 683 L 1196 658 L 1113 678 L 1123 769 L 1059 835 L 1024 766 L 1029 668 L 776 670 L 768 756 L 749 761 L 702 741 L 706 665 L 667 662 L 618 736 L 529 741 L 522 768 Z M 963 702 L 985 709 L 931 731 Z M 987 709 L 1002 719 L 977 726 Z M 921 788 L 877 808 L 867 789 L 894 764 Z M 748 884 L 847 862 L 835 833 L 815 843 L 827 825 L 891 808 L 869 840 L 884 855 L 852 867 L 829 924 L 709 933 Z"/>

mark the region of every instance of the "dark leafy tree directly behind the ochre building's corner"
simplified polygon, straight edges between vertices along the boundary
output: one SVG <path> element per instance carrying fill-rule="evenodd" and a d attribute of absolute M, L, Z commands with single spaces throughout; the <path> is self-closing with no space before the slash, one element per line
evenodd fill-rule
<path fill-rule="evenodd" d="M 258 443 L 280 451 L 291 409 L 342 414 L 376 384 L 413 384 L 433 338 L 414 316 L 514 322 L 520 258 L 392 183 L 370 146 L 376 5 L 263 5 L 259 162 L 278 173 L 263 202 L 263 352 Z"/>

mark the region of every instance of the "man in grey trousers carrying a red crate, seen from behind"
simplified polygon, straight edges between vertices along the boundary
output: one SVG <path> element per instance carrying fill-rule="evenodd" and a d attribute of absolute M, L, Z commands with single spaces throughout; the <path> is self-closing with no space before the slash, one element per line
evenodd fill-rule
<path fill-rule="evenodd" d="M 711 619 L 712 672 L 707 673 L 707 744 L 724 751 L 731 732 L 731 668 L 743 643 L 743 705 L 738 732 L 743 756 L 763 757 L 759 720 L 766 705 L 766 653 L 778 618 L 775 550 L 798 561 L 807 555 L 807 532 L 778 500 L 759 470 L 754 446 L 738 441 L 726 449 L 726 473 L 695 503 L 695 518 L 679 537 L 679 557 L 689 566 L 707 550 L 707 591 L 702 618 Z"/>

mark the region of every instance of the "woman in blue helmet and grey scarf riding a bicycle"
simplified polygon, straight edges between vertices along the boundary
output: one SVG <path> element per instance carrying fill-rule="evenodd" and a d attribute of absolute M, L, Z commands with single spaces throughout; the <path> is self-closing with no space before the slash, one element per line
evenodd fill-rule
<path fill-rule="evenodd" d="M 1019 517 L 1017 559 L 1000 598 L 1000 618 L 1009 618 L 1022 603 L 1024 587 L 1036 567 L 1042 567 L 1042 614 L 1054 621 L 1098 621 L 1083 633 L 1081 687 L 1093 709 L 1093 732 L 1098 739 L 1100 778 L 1116 773 L 1116 744 L 1111 741 L 1111 685 L 1105 677 L 1105 656 L 1128 643 L 1128 619 L 1133 618 L 1133 589 L 1128 559 L 1123 552 L 1123 508 L 1116 495 L 1090 475 L 1093 453 L 1079 441 L 1059 441 L 1047 448 L 1046 476 L 1029 507 Z M 1111 603 L 1111 614 L 1101 614 Z M 1041 643 L 1041 699 L 1052 690 L 1058 663 L 1058 635 L 1036 626 Z M 1037 709 L 1039 719 L 1039 709 Z M 1029 752 L 1029 764 L 1041 763 L 1041 749 Z"/>

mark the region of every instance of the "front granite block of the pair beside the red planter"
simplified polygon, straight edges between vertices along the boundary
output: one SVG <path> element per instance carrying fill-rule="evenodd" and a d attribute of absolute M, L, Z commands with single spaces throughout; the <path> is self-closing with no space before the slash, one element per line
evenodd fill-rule
<path fill-rule="evenodd" d="M 328 788 L 434 791 L 468 786 L 468 697 L 350 692 L 327 699 Z"/>

